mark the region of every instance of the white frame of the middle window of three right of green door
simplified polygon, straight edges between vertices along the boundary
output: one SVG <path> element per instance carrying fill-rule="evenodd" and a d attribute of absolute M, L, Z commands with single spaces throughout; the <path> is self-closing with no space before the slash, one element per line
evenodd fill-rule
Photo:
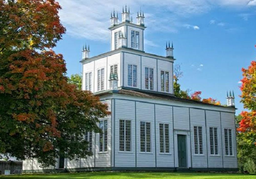
<path fill-rule="evenodd" d="M 211 144 L 211 128 L 212 128 L 212 144 Z M 217 130 L 217 136 L 215 136 L 215 129 Z M 219 150 L 219 129 L 216 126 L 210 126 L 209 127 L 209 144 L 210 144 L 210 156 L 219 156 L 220 150 Z M 216 140 L 217 140 L 217 146 L 216 146 Z M 211 153 L 211 147 L 213 147 L 213 154 Z M 216 148 L 217 147 L 217 148 Z M 216 150 L 217 149 L 217 150 Z M 217 151 L 217 153 L 216 153 Z"/>

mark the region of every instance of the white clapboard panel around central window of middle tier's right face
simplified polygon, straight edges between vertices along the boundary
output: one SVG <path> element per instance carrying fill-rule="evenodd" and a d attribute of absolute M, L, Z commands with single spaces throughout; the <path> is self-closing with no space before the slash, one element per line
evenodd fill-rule
<path fill-rule="evenodd" d="M 154 76 L 153 76 L 153 83 L 154 83 L 154 89 L 153 91 L 157 91 L 157 73 L 156 73 L 156 59 L 154 58 L 148 58 L 148 57 L 143 57 L 141 58 L 141 76 L 142 76 L 142 89 L 144 90 L 150 90 L 150 85 L 148 85 L 148 89 L 145 88 L 145 67 L 148 68 L 153 68 L 154 69 Z M 148 71 L 149 74 L 149 71 Z"/>

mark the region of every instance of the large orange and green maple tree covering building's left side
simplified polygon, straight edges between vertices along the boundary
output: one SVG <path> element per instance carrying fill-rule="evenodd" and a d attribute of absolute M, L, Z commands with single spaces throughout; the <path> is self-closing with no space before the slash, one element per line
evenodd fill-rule
<path fill-rule="evenodd" d="M 83 135 L 109 115 L 99 97 L 68 83 L 56 46 L 65 28 L 55 0 L 0 0 L 0 158 L 55 165 L 92 153 Z"/>

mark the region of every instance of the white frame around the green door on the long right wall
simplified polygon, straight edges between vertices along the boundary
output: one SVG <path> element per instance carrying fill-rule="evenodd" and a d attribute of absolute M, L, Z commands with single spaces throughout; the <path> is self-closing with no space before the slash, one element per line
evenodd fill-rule
<path fill-rule="evenodd" d="M 174 130 L 174 159 L 175 167 L 179 167 L 179 155 L 178 155 L 178 135 L 186 136 L 186 152 L 187 152 L 187 168 L 191 167 L 191 152 L 190 152 L 190 131 L 189 130 Z"/>

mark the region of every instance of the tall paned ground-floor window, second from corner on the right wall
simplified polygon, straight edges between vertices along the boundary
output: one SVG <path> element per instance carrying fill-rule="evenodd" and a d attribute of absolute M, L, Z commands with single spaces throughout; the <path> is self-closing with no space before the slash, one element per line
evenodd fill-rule
<path fill-rule="evenodd" d="M 151 123 L 141 121 L 141 152 L 151 152 Z"/>

